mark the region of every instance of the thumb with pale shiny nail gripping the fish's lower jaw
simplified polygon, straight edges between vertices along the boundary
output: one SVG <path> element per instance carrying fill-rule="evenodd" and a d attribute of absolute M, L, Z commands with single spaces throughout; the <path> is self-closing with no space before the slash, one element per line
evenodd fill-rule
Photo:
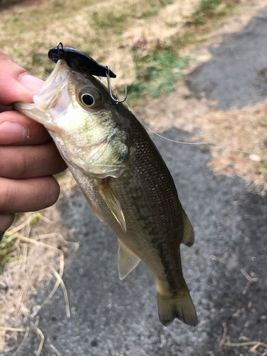
<path fill-rule="evenodd" d="M 43 85 L 43 80 L 29 75 L 11 58 L 0 51 L 0 104 L 11 105 L 17 101 L 33 102 L 33 95 Z"/>

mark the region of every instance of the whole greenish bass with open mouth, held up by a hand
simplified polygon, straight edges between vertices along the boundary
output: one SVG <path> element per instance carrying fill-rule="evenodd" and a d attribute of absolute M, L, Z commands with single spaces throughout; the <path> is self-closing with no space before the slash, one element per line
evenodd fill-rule
<path fill-rule="evenodd" d="M 144 261 L 157 282 L 160 322 L 197 325 L 180 257 L 194 230 L 167 165 L 125 103 L 86 70 L 56 62 L 33 103 L 16 110 L 46 127 L 90 208 L 117 235 L 120 279 Z"/>

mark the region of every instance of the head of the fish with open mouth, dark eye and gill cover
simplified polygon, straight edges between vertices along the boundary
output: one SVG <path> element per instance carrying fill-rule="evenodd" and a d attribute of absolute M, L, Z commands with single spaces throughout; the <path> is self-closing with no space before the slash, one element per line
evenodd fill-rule
<path fill-rule="evenodd" d="M 68 165 L 98 178 L 127 169 L 129 121 L 93 75 L 60 59 L 33 104 L 14 106 L 48 129 Z"/>

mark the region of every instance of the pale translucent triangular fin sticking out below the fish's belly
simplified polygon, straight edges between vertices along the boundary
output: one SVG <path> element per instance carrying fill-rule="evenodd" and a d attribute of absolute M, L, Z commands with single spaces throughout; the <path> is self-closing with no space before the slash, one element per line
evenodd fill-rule
<path fill-rule="evenodd" d="M 117 254 L 119 255 L 118 260 L 118 270 L 120 280 L 125 278 L 136 266 L 140 263 L 141 259 L 132 253 L 129 248 L 127 248 L 120 240 L 117 240 L 119 244 L 119 251 Z"/>

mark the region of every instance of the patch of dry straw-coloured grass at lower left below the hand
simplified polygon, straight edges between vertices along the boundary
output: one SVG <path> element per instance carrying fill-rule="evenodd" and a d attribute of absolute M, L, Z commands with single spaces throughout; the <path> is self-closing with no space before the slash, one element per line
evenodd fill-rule
<path fill-rule="evenodd" d="M 73 187 L 73 178 L 65 174 L 60 180 L 63 187 L 61 199 Z M 62 276 L 66 259 L 73 256 L 78 244 L 66 240 L 73 239 L 73 231 L 62 231 L 57 205 L 43 210 L 42 214 L 35 212 L 21 216 L 6 231 L 4 242 L 0 245 L 1 252 L 5 253 L 4 244 L 16 241 L 9 251 L 9 263 L 4 266 L 0 278 L 0 350 L 5 355 L 19 355 L 19 350 L 31 335 L 41 337 L 37 353 L 40 355 L 43 336 L 37 328 L 38 312 L 51 300 L 59 286 L 63 289 L 66 315 L 70 318 L 68 293 Z M 53 290 L 45 300 L 36 304 L 38 289 L 52 280 L 55 280 Z M 28 320 L 31 320 L 30 327 L 26 326 Z M 7 343 L 10 339 L 16 340 L 20 333 L 24 333 L 24 337 L 19 349 L 16 352 L 9 350 Z"/>

